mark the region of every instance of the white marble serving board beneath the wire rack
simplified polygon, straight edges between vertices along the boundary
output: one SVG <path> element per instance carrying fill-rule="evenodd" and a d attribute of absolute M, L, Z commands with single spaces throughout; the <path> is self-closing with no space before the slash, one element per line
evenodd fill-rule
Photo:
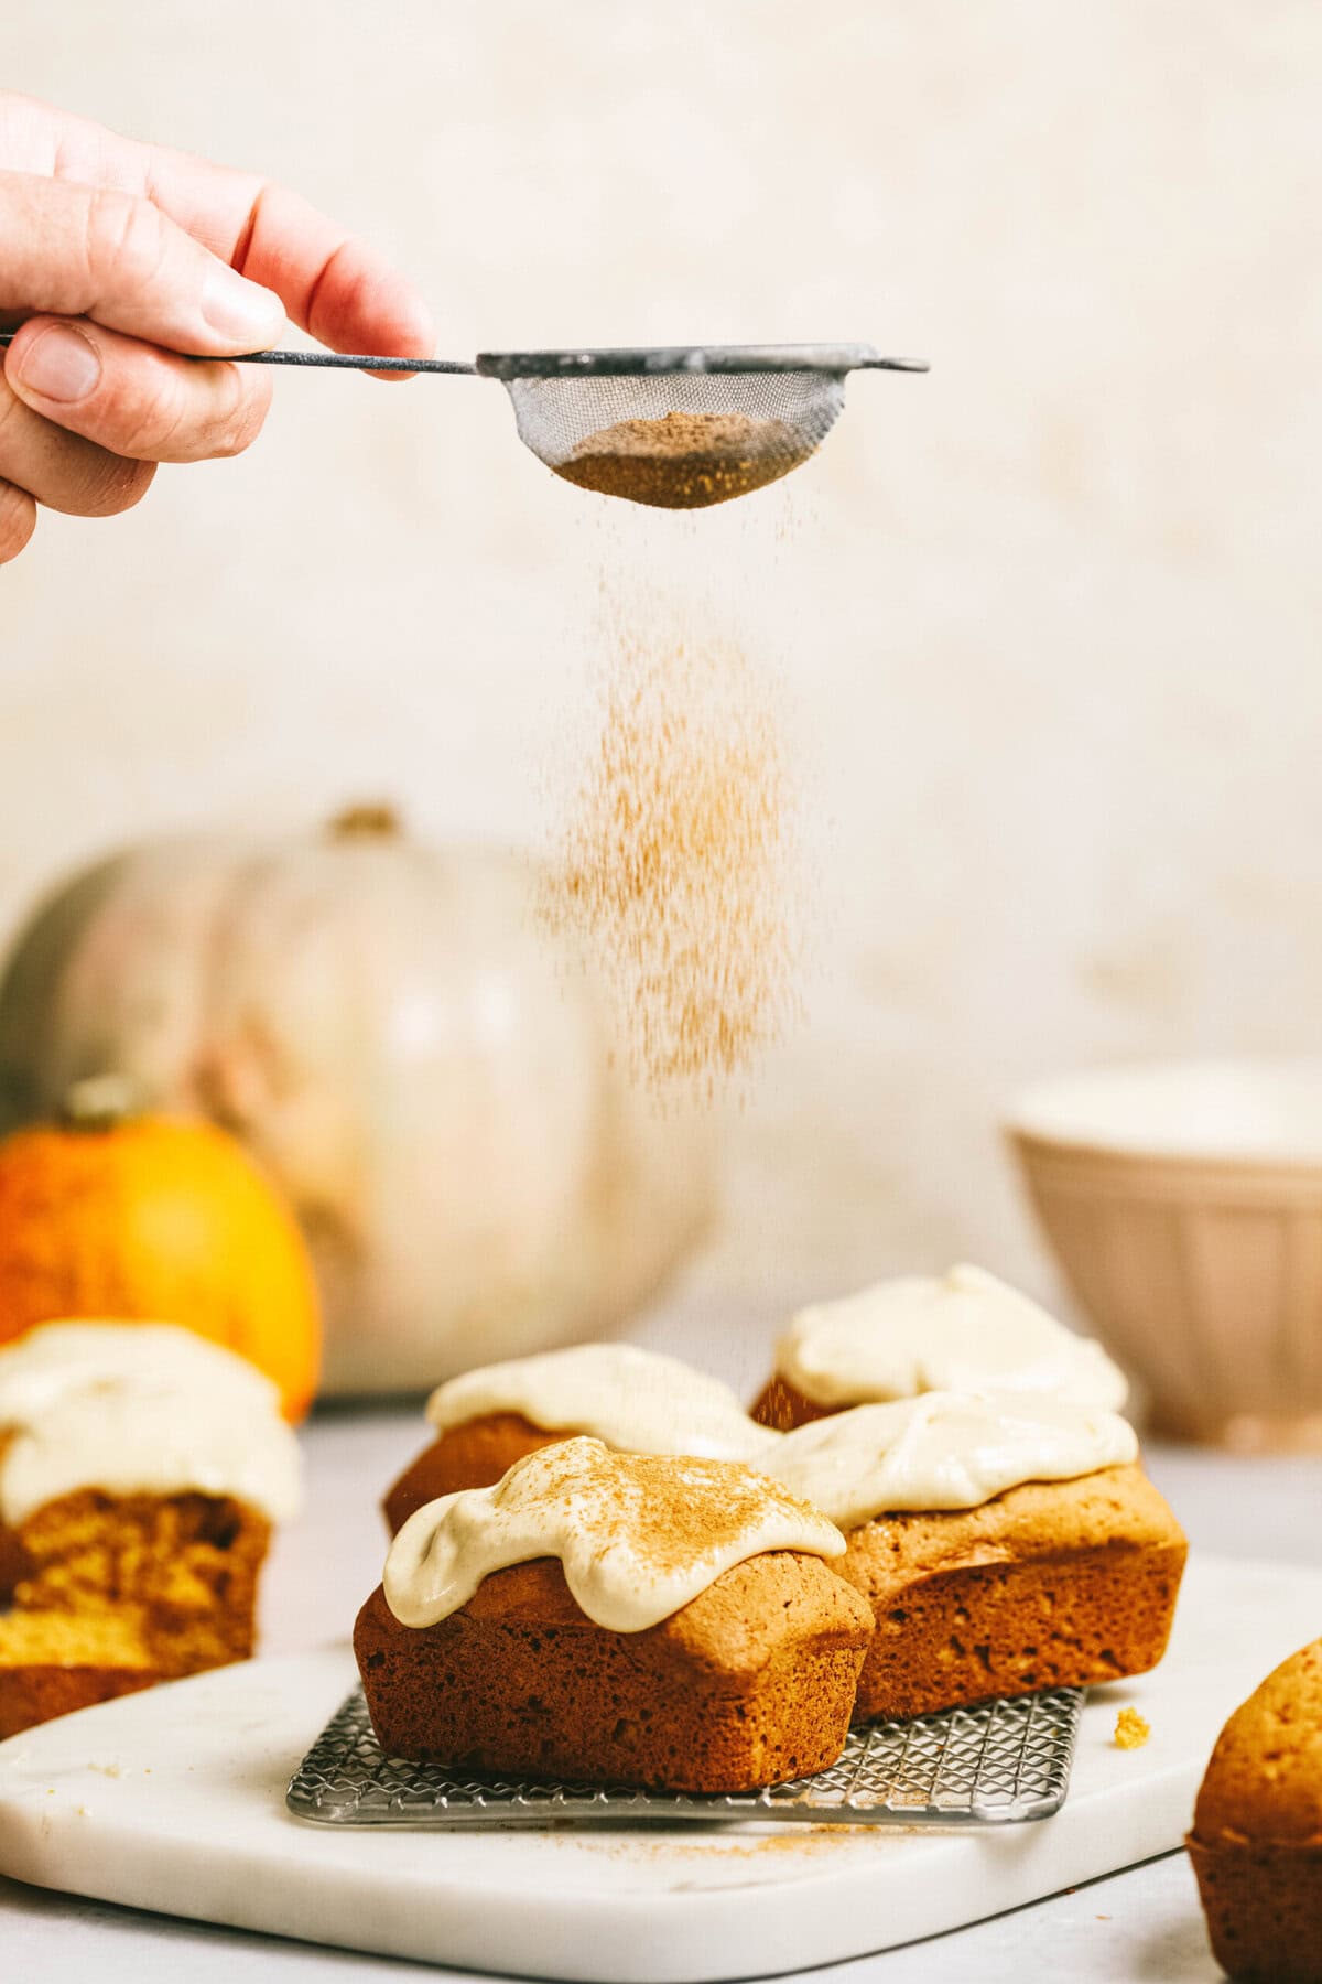
<path fill-rule="evenodd" d="M 1094 1690 L 1054 1819 L 977 1831 L 408 1833 L 283 1796 L 347 1649 L 252 1661 L 0 1744 L 0 1873 L 166 1915 L 583 1984 L 765 1976 L 955 1928 L 1169 1851 L 1211 1744 L 1322 1631 L 1322 1575 L 1195 1559 L 1156 1674 Z M 1116 1710 L 1152 1722 L 1112 1742 Z"/>

